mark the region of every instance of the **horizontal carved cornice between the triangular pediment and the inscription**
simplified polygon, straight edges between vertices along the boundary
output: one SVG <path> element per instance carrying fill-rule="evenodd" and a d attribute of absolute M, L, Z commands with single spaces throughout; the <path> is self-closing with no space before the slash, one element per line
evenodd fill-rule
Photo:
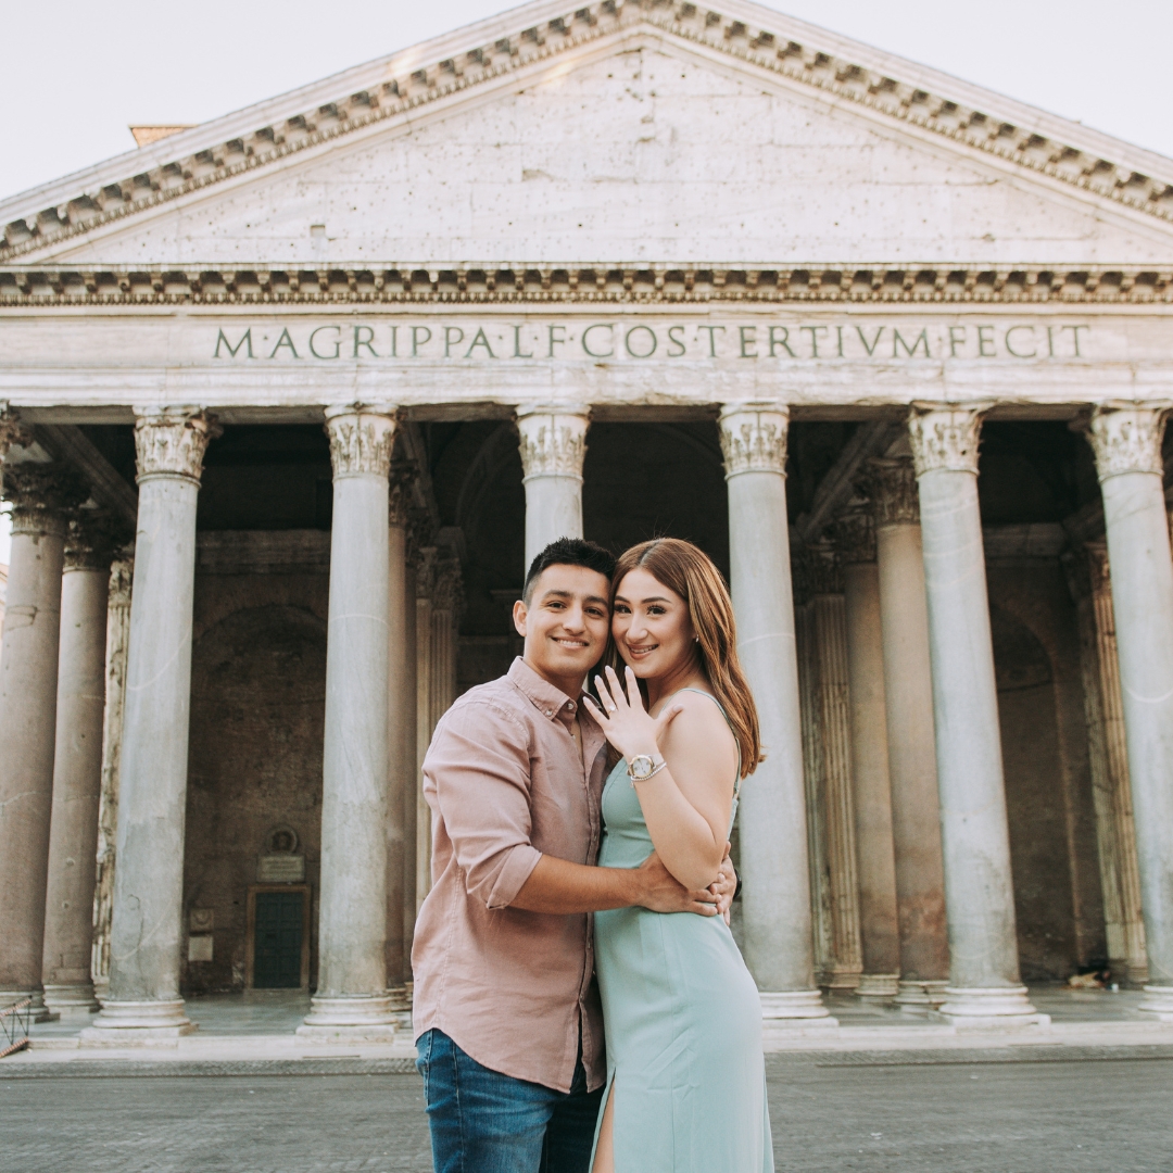
<path fill-rule="evenodd" d="M 273 269 L 252 262 L 151 267 L 0 267 L 0 308 L 74 305 L 707 305 L 1173 303 L 1173 266 L 990 269 L 865 260 L 753 266 L 703 262 L 567 262 L 453 266 L 398 260 Z"/>

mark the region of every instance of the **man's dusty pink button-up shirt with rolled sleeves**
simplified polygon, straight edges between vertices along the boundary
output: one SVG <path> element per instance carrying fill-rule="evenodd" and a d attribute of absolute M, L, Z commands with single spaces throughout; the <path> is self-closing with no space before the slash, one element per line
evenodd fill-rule
<path fill-rule="evenodd" d="M 598 857 L 606 754 L 578 707 L 516 659 L 441 718 L 423 759 L 432 890 L 412 949 L 416 1038 L 438 1026 L 486 1067 L 563 1092 L 579 1030 L 588 1086 L 605 1078 L 591 917 L 509 902 L 543 854 Z"/>

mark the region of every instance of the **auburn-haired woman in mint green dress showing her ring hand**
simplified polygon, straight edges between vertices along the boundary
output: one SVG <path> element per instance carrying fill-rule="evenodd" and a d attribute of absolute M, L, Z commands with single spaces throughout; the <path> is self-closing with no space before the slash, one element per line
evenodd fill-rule
<path fill-rule="evenodd" d="M 637 867 L 655 848 L 705 888 L 761 757 L 728 591 L 697 547 L 660 538 L 619 558 L 611 594 L 623 680 L 608 666 L 599 704 L 584 701 L 622 755 L 598 862 Z M 724 920 L 596 913 L 595 963 L 608 1083 L 594 1173 L 772 1173 L 761 1004 Z"/>

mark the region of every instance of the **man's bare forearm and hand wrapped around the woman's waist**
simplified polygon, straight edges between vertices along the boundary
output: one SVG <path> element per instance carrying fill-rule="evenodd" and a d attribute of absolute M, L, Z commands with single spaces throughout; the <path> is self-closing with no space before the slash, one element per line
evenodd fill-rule
<path fill-rule="evenodd" d="M 717 896 L 683 888 L 652 853 L 638 868 L 592 868 L 543 855 L 509 902 L 529 913 L 602 913 L 609 908 L 717 915 Z"/>

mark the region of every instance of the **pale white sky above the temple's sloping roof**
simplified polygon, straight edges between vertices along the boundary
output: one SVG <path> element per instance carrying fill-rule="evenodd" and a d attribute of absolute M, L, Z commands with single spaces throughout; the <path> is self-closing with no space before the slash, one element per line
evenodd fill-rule
<path fill-rule="evenodd" d="M 1173 157 L 1171 0 L 762 2 Z M 122 154 L 131 122 L 204 122 L 509 7 L 56 0 L 40 9 L 2 0 L 12 35 L 0 196 Z M 8 547 L 0 516 L 0 563 Z"/>

